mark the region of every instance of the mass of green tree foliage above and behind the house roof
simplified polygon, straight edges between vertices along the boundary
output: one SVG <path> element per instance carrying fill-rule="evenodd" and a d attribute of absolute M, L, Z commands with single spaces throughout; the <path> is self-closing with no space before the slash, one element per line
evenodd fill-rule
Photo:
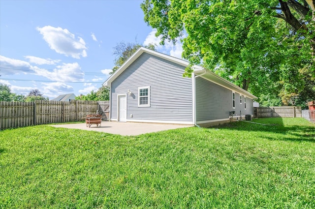
<path fill-rule="evenodd" d="M 157 29 L 161 44 L 181 37 L 183 58 L 192 64 L 202 63 L 258 96 L 272 93 L 276 96 L 268 99 L 282 99 L 284 104 L 314 84 L 310 76 L 315 59 L 314 6 L 315 0 L 145 0 L 141 4 L 145 21 Z"/>

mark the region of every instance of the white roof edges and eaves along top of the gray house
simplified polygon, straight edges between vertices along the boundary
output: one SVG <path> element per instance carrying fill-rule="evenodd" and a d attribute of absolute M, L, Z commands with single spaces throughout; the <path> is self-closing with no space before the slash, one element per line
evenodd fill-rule
<path fill-rule="evenodd" d="M 106 86 L 106 87 L 110 87 L 110 84 L 120 75 L 122 74 L 122 72 L 124 72 L 124 70 L 126 70 L 126 68 L 132 64 L 138 57 L 140 57 L 140 55 L 142 55 L 143 53 L 148 53 L 150 55 L 153 55 L 153 56 L 157 56 L 159 58 L 162 58 L 162 59 L 165 59 L 165 60 L 169 60 L 171 62 L 174 62 L 174 63 L 177 63 L 179 65 L 182 65 L 184 67 L 188 67 L 189 66 L 189 62 L 186 61 L 186 60 L 182 60 L 182 59 L 179 59 L 179 58 L 175 58 L 175 57 L 172 57 L 172 56 L 169 56 L 169 55 L 165 55 L 163 53 L 159 53 L 159 52 L 156 52 L 156 51 L 153 51 L 151 49 L 147 49 L 145 47 L 140 47 L 128 60 L 126 60 L 126 62 L 119 68 L 115 71 L 115 73 L 110 76 L 104 83 L 103 83 L 103 86 Z M 200 76 L 202 78 L 205 78 L 207 80 L 210 80 L 212 81 L 213 83 L 216 83 L 218 85 L 221 85 L 227 89 L 230 89 L 230 90 L 234 90 L 234 91 L 237 91 L 243 95 L 246 95 L 247 97 L 250 97 L 252 99 L 257 99 L 256 96 L 252 95 L 250 92 L 246 91 L 246 90 L 243 90 L 242 88 L 234 85 L 233 83 L 221 78 L 219 75 L 215 74 L 214 72 L 202 67 L 202 66 L 199 66 L 199 65 L 193 65 L 192 66 L 192 69 L 193 69 L 193 73 L 196 75 L 196 76 Z"/>

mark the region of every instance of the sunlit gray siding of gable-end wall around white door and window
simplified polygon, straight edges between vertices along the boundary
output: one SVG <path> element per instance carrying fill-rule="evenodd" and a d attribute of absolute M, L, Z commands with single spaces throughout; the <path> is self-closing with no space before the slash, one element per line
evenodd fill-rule
<path fill-rule="evenodd" d="M 192 82 L 185 67 L 143 53 L 111 84 L 111 118 L 117 119 L 117 94 L 127 90 L 127 121 L 192 123 Z M 138 88 L 150 86 L 150 107 L 138 107 Z M 132 117 L 131 117 L 132 114 Z"/>

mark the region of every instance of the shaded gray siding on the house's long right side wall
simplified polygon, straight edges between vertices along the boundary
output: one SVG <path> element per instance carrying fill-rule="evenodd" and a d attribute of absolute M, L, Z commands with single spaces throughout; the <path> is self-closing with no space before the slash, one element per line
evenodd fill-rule
<path fill-rule="evenodd" d="M 228 119 L 229 112 L 235 114 L 252 115 L 252 99 L 246 98 L 246 110 L 244 108 L 244 95 L 240 104 L 240 94 L 235 92 L 235 109 L 232 104 L 232 90 L 205 80 L 196 78 L 196 122 Z"/>

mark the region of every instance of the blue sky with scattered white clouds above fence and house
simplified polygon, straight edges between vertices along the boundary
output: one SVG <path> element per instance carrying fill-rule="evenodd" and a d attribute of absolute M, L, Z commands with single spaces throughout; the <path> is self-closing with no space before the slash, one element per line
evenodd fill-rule
<path fill-rule="evenodd" d="M 156 44 L 181 58 L 182 45 L 159 45 L 142 0 L 0 0 L 0 83 L 12 93 L 38 89 L 53 99 L 97 91 L 120 42 Z"/>

